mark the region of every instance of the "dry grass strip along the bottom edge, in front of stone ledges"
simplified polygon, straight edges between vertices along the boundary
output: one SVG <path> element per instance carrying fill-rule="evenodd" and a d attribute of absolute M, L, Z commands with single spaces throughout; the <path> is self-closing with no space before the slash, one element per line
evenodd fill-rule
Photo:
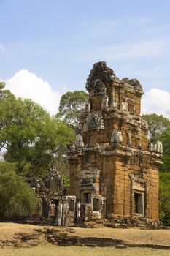
<path fill-rule="evenodd" d="M 51 244 L 42 244 L 38 247 L 20 248 L 6 247 L 0 249 L 0 256 L 169 256 L 169 250 L 148 249 L 148 248 L 89 248 L 68 246 L 61 247 Z"/>

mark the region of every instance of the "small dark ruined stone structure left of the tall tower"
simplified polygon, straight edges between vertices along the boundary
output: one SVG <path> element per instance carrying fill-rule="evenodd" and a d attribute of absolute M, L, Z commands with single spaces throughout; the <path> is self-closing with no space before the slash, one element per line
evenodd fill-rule
<path fill-rule="evenodd" d="M 74 225 L 76 197 L 70 196 L 63 187 L 63 178 L 52 165 L 47 176 L 39 182 L 36 180 L 32 187 L 39 197 L 39 217 L 49 219 L 56 226 Z"/>

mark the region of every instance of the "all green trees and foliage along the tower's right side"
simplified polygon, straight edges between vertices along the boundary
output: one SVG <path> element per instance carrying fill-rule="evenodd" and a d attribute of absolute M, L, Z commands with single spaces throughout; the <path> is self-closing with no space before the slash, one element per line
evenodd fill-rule
<path fill-rule="evenodd" d="M 163 166 L 160 167 L 159 218 L 163 225 L 170 225 L 170 120 L 155 113 L 142 116 L 149 125 L 151 142 L 163 143 Z"/>

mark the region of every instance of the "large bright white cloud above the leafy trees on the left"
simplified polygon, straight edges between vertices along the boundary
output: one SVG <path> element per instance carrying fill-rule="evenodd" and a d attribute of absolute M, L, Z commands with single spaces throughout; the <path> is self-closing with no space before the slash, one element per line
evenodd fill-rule
<path fill-rule="evenodd" d="M 6 81 L 7 89 L 16 97 L 34 100 L 44 107 L 50 114 L 58 112 L 61 94 L 53 91 L 49 83 L 28 70 L 20 70 Z"/>

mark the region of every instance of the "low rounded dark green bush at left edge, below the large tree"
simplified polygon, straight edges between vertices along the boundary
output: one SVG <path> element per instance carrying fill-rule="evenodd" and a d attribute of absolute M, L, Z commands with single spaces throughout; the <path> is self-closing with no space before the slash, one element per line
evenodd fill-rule
<path fill-rule="evenodd" d="M 15 164 L 0 162 L 0 219 L 11 214 L 31 214 L 36 208 L 34 191 L 15 170 Z"/>

